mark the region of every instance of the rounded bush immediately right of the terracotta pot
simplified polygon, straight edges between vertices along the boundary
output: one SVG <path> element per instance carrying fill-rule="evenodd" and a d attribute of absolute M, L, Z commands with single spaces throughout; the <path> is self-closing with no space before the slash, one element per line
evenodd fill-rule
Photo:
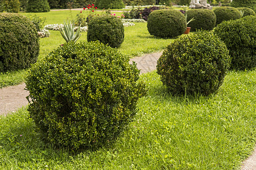
<path fill-rule="evenodd" d="M 212 30 L 216 25 L 216 15 L 212 10 L 193 9 L 187 11 L 187 21 L 194 18 L 187 26 L 191 27 L 191 31 L 196 29 Z"/>

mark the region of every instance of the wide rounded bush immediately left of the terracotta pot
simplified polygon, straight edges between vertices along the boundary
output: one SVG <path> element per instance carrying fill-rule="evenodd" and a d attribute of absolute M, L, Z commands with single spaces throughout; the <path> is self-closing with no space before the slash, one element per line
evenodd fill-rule
<path fill-rule="evenodd" d="M 156 37 L 176 37 L 185 32 L 187 22 L 178 10 L 156 10 L 148 16 L 147 29 Z"/>

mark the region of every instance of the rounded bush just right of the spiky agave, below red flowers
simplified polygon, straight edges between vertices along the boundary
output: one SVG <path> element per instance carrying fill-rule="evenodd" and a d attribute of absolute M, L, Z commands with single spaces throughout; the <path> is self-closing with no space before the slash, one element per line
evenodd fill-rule
<path fill-rule="evenodd" d="M 101 41 L 113 48 L 119 47 L 125 38 L 121 19 L 112 15 L 93 17 L 88 23 L 87 41 Z"/>

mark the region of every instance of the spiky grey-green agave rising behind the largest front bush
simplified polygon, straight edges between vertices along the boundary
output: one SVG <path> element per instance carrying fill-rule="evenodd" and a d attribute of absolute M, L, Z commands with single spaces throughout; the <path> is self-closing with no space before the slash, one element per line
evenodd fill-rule
<path fill-rule="evenodd" d="M 79 28 L 77 28 L 76 34 L 75 34 L 75 31 L 74 31 L 75 22 L 67 22 L 66 23 L 64 21 L 64 27 L 60 27 L 60 33 L 63 36 L 63 38 L 65 39 L 65 41 L 76 42 L 81 36 L 80 27 L 81 27 L 81 25 L 79 26 Z"/>

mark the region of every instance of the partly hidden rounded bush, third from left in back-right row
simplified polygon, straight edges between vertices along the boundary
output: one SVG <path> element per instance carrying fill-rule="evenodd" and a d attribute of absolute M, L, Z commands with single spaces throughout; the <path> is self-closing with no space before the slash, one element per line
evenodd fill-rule
<path fill-rule="evenodd" d="M 241 18 L 241 12 L 234 7 L 218 7 L 213 10 L 216 15 L 216 25 L 224 20 L 235 20 Z"/>

